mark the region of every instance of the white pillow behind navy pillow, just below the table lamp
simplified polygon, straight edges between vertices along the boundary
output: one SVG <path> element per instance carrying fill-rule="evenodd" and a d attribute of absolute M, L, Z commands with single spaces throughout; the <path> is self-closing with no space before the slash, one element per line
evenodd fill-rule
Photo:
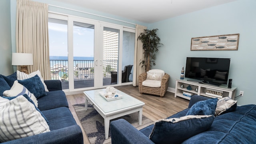
<path fill-rule="evenodd" d="M 17 70 L 17 80 L 25 80 L 25 79 L 28 79 L 28 78 L 32 78 L 32 77 L 35 76 L 35 75 L 38 75 L 38 76 L 39 76 L 40 80 L 41 80 L 42 83 L 44 84 L 44 89 L 45 89 L 45 91 L 46 91 L 46 92 L 49 92 L 49 90 L 47 89 L 46 84 L 44 83 L 44 79 L 43 79 L 43 77 L 42 77 L 42 75 L 41 75 L 40 70 L 37 70 L 36 72 L 32 72 L 32 73 L 30 73 L 30 74 L 26 74 L 26 73 L 24 73 L 24 72 L 20 72 L 20 71 Z"/>

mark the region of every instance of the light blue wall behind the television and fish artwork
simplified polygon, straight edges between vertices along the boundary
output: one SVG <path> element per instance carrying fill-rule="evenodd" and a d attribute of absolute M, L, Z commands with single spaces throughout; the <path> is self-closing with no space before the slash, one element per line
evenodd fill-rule
<path fill-rule="evenodd" d="M 238 0 L 220 6 L 192 12 L 149 25 L 158 28 L 164 44 L 159 48 L 156 66 L 170 74 L 169 87 L 175 88 L 186 57 L 231 58 L 229 78 L 232 86 L 244 91 L 238 105 L 256 104 L 256 1 Z M 240 34 L 238 50 L 190 51 L 191 38 L 222 34 Z"/>

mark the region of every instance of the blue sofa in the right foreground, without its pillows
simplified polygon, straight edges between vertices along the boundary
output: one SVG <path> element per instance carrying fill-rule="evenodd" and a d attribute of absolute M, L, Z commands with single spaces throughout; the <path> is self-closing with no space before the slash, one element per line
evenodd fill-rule
<path fill-rule="evenodd" d="M 192 96 L 187 109 L 168 118 L 185 116 L 193 104 L 207 99 L 203 96 Z M 112 144 L 154 144 L 148 138 L 153 127 L 154 124 L 137 130 L 124 119 L 112 121 Z M 188 134 L 186 130 L 183 131 L 185 135 Z M 184 140 L 182 144 L 256 144 L 256 105 L 237 106 L 233 112 L 216 116 L 208 130 Z"/>

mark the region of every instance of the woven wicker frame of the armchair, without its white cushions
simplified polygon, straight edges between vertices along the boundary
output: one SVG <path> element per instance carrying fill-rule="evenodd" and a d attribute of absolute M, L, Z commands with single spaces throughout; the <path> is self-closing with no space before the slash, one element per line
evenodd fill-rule
<path fill-rule="evenodd" d="M 170 75 L 166 74 L 166 73 L 164 74 L 164 76 L 162 77 L 162 80 L 161 80 L 161 87 L 159 87 L 159 88 L 152 88 L 152 87 L 148 87 L 148 86 L 143 86 L 142 82 L 144 80 L 146 80 L 146 78 L 147 78 L 147 73 L 146 72 L 140 74 L 139 77 L 138 77 L 140 93 L 141 94 L 142 93 L 153 94 L 153 95 L 156 95 L 156 96 L 163 97 L 164 94 L 166 93 L 167 88 L 168 88 Z"/>

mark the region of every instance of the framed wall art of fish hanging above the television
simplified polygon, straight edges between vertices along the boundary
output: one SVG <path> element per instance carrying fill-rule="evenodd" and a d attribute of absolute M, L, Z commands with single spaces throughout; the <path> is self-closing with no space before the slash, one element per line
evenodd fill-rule
<path fill-rule="evenodd" d="M 239 34 L 191 38 L 190 50 L 238 50 Z"/>

